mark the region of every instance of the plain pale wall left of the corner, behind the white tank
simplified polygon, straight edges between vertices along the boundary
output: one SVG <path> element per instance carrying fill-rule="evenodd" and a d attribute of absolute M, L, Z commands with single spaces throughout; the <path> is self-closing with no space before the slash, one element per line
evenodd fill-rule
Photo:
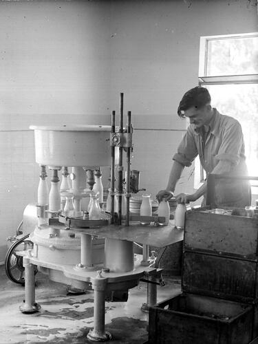
<path fill-rule="evenodd" d="M 0 261 L 36 202 L 29 126 L 109 122 L 109 12 L 109 1 L 0 3 Z"/>

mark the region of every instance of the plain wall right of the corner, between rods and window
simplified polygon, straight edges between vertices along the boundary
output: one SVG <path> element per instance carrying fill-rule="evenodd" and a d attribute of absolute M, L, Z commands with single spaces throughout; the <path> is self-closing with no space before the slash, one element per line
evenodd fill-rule
<path fill-rule="evenodd" d="M 257 1 L 112 1 L 111 18 L 111 99 L 125 92 L 143 129 L 135 132 L 133 168 L 155 197 L 186 128 L 177 109 L 198 83 L 200 36 L 256 32 Z M 176 193 L 193 191 L 193 172 L 184 170 Z"/>

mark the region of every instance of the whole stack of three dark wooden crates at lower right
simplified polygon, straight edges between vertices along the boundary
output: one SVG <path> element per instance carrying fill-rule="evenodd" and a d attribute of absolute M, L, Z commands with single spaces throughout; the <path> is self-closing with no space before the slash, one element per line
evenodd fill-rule
<path fill-rule="evenodd" d="M 258 220 L 186 212 L 182 294 L 149 312 L 149 344 L 249 344 L 258 335 Z"/>

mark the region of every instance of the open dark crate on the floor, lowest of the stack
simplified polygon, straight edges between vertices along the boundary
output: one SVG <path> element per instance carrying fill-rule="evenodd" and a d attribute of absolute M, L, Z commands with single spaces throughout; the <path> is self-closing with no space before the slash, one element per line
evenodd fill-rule
<path fill-rule="evenodd" d="M 182 293 L 149 311 L 149 344 L 248 344 L 253 307 Z"/>

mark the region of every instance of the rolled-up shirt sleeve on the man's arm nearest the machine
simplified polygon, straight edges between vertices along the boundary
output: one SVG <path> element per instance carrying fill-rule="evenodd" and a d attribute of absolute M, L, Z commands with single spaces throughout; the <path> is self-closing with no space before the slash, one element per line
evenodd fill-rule
<path fill-rule="evenodd" d="M 193 160 L 197 157 L 198 151 L 194 139 L 194 133 L 187 129 L 184 138 L 178 146 L 178 152 L 173 155 L 173 160 L 179 162 L 183 166 L 191 166 Z"/>

